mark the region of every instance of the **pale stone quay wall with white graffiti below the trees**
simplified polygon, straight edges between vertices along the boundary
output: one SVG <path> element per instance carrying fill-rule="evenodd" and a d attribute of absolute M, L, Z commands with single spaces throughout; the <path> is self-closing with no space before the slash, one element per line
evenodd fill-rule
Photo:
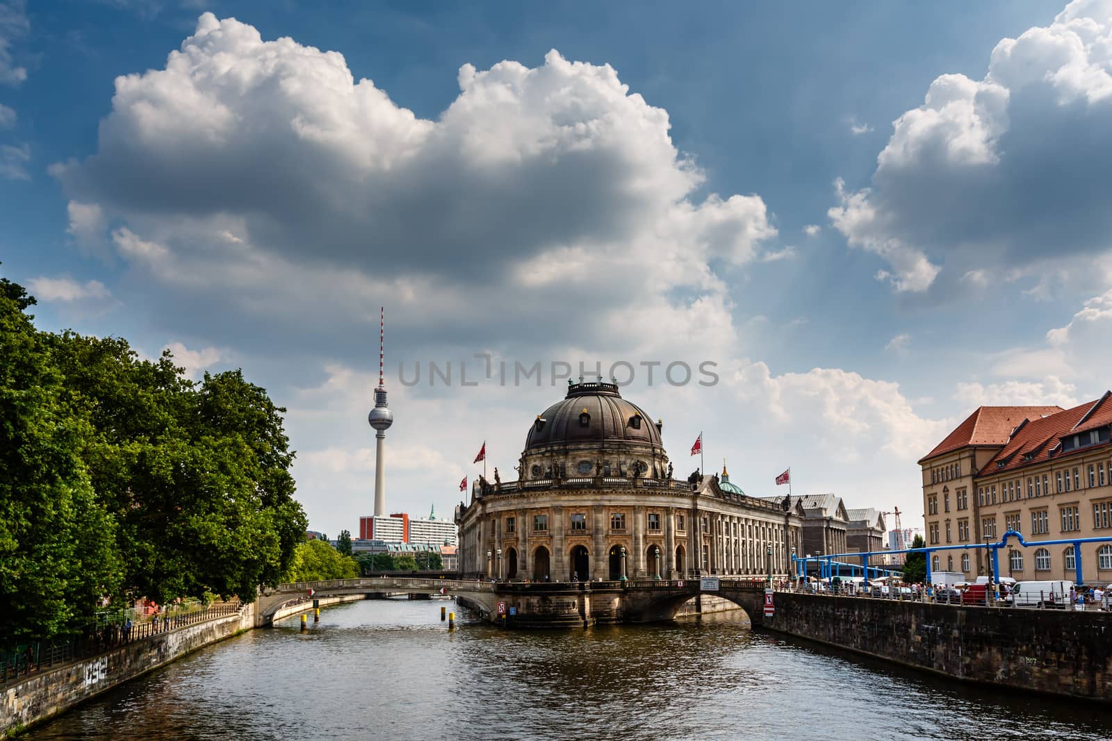
<path fill-rule="evenodd" d="M 238 614 L 155 633 L 17 682 L 0 695 L 0 739 L 254 625 L 255 605 L 246 604 Z"/>

